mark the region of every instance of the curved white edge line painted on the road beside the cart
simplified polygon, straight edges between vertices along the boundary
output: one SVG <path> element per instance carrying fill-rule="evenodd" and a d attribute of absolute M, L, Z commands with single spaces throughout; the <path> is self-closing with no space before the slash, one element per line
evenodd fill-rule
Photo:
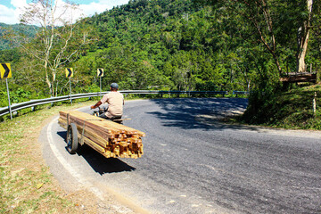
<path fill-rule="evenodd" d="M 86 187 L 88 187 L 88 189 L 92 192 L 95 193 L 95 195 L 97 197 L 99 197 L 101 200 L 103 200 L 103 192 L 100 191 L 98 188 L 96 188 L 95 186 L 93 186 L 90 182 L 88 182 L 88 180 L 86 180 L 86 178 L 82 177 L 75 169 L 73 169 L 70 165 L 70 163 L 68 163 L 68 161 L 66 161 L 65 158 L 63 158 L 62 153 L 59 152 L 57 146 L 53 143 L 53 132 L 52 132 L 52 128 L 53 128 L 53 122 L 57 123 L 57 119 L 58 117 L 54 118 L 48 125 L 47 128 L 47 138 L 48 138 L 48 142 L 50 145 L 50 148 L 53 151 L 54 156 L 57 158 L 58 161 L 61 162 L 62 166 L 64 167 L 64 169 L 66 169 L 70 175 L 74 178 L 76 178 L 76 180 L 81 184 L 81 185 L 85 185 Z"/>

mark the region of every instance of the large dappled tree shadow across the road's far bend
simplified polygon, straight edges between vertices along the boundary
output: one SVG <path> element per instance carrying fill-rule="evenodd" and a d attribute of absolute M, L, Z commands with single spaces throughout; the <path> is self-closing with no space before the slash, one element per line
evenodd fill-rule
<path fill-rule="evenodd" d="M 155 99 L 151 100 L 157 103 L 163 111 L 152 111 L 149 114 L 161 119 L 165 127 L 177 127 L 184 129 L 202 128 L 202 129 L 251 129 L 241 125 L 226 124 L 216 116 L 222 116 L 227 111 L 244 111 L 248 104 L 247 99 L 243 98 L 183 98 L 183 99 Z M 210 119 L 199 119 L 198 116 L 210 116 Z"/>

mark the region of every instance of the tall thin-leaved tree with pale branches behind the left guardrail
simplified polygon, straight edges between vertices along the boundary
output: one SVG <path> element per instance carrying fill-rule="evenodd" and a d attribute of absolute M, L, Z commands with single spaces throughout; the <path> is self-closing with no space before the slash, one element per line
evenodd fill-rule
<path fill-rule="evenodd" d="M 78 59 L 79 50 L 89 44 L 91 28 L 74 20 L 78 6 L 58 0 L 34 0 L 21 15 L 21 23 L 40 27 L 33 41 L 22 45 L 36 57 L 45 70 L 45 82 L 51 95 L 58 69 Z"/>

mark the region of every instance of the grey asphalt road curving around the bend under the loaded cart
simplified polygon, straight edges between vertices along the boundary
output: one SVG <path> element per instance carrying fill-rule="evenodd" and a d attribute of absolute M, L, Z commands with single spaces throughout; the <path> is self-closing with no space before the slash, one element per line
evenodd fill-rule
<path fill-rule="evenodd" d="M 125 118 L 131 120 L 124 125 L 146 133 L 137 160 L 105 159 L 90 148 L 70 155 L 56 119 L 40 141 L 65 188 L 86 187 L 98 197 L 114 193 L 151 213 L 321 213 L 319 133 L 213 119 L 246 104 L 215 98 L 127 102 Z"/>

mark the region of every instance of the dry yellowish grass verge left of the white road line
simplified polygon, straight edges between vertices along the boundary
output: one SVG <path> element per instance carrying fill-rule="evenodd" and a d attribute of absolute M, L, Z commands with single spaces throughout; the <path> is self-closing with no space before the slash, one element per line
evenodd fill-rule
<path fill-rule="evenodd" d="M 93 103 L 54 106 L 0 123 L 0 213 L 78 213 L 81 210 L 77 199 L 62 191 L 45 166 L 38 135 L 45 121 L 58 111 Z"/>

